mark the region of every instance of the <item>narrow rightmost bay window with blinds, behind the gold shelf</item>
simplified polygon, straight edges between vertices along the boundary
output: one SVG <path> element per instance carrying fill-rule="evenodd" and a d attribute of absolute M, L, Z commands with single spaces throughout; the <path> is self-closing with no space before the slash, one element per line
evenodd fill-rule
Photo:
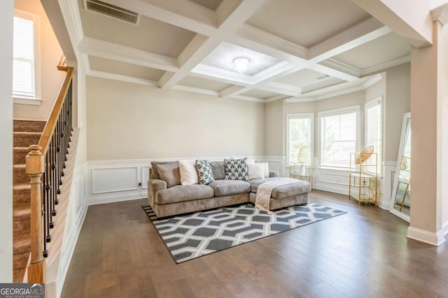
<path fill-rule="evenodd" d="M 365 147 L 372 145 L 377 154 L 378 171 L 381 172 L 381 98 L 372 100 L 365 105 Z M 373 167 L 367 167 L 367 172 L 374 172 Z"/>

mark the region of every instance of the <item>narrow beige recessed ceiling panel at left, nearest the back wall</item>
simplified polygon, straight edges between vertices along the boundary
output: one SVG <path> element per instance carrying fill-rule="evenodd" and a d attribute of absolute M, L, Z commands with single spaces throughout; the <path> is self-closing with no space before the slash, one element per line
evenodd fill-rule
<path fill-rule="evenodd" d="M 115 73 L 116 75 L 127 75 L 140 79 L 158 81 L 165 73 L 163 70 L 138 66 L 111 59 L 89 56 L 90 69 L 103 71 L 105 73 Z"/>

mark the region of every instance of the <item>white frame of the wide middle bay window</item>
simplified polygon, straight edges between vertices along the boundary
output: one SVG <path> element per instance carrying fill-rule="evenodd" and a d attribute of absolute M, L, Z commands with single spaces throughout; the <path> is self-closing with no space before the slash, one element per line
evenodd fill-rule
<path fill-rule="evenodd" d="M 317 113 L 317 125 L 318 125 L 318 163 L 319 168 L 321 169 L 328 169 L 328 170 L 341 170 L 341 171 L 349 171 L 349 165 L 347 167 L 329 167 L 329 166 L 322 166 L 322 124 L 321 119 L 322 117 L 330 117 L 335 116 L 339 114 L 348 114 L 348 113 L 356 113 L 356 141 L 355 141 L 355 151 L 359 151 L 360 147 L 360 106 L 359 105 L 353 105 L 350 107 L 342 107 L 335 110 L 328 110 L 323 112 Z"/>

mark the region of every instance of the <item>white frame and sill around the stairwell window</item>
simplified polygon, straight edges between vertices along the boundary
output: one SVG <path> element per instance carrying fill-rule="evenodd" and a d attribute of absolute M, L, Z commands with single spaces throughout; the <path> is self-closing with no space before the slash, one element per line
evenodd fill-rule
<path fill-rule="evenodd" d="M 19 9 L 14 10 L 14 16 L 34 23 L 34 98 L 13 96 L 13 103 L 41 105 L 41 18 L 39 15 Z"/>

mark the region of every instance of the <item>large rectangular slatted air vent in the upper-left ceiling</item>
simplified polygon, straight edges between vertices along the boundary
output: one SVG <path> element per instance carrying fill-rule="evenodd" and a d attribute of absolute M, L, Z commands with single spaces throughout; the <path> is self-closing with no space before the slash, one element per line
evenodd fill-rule
<path fill-rule="evenodd" d="M 101 15 L 107 15 L 117 20 L 122 20 L 131 24 L 139 24 L 139 13 L 127 10 L 99 0 L 84 0 L 85 10 L 93 11 Z"/>

